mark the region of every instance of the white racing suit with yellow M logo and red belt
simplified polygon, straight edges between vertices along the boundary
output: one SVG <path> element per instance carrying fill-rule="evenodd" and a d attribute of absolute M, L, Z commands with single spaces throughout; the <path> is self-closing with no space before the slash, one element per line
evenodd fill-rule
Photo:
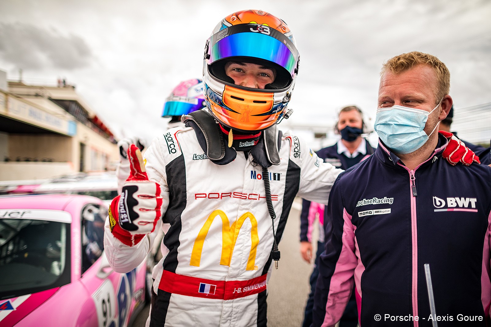
<path fill-rule="evenodd" d="M 268 175 L 279 242 L 295 196 L 327 203 L 342 171 L 323 163 L 289 132 L 275 133 L 279 164 L 269 167 Z M 156 296 L 147 326 L 266 326 L 273 221 L 262 167 L 244 152 L 225 165 L 212 162 L 192 127 L 173 128 L 154 139 L 145 159 L 149 178 L 162 186 L 165 232 L 163 259 L 153 269 Z M 131 271 L 145 259 L 153 239 L 126 246 L 106 223 L 111 267 Z"/>

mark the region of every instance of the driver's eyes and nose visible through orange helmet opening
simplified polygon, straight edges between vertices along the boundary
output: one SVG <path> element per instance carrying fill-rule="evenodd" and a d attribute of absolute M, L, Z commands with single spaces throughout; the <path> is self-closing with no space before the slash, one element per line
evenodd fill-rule
<path fill-rule="evenodd" d="M 276 70 L 248 62 L 229 61 L 225 64 L 225 74 L 231 77 L 236 85 L 264 89 L 266 84 L 273 83 Z"/>

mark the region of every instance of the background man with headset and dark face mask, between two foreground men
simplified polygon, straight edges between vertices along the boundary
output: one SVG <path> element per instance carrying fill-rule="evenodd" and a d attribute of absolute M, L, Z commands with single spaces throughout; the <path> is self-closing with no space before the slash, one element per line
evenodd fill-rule
<path fill-rule="evenodd" d="M 368 157 L 374 152 L 370 143 L 361 137 L 365 123 L 363 113 L 354 106 L 347 106 L 340 110 L 335 132 L 341 134 L 341 139 L 334 145 L 317 151 L 317 155 L 336 168 L 348 169 Z M 317 277 L 319 276 L 318 258 L 324 250 L 324 205 L 308 200 L 302 200 L 300 214 L 300 253 L 302 258 L 311 262 L 312 259 L 312 225 L 316 218 L 319 219 L 319 241 L 315 265 L 310 275 L 310 294 L 305 305 L 303 327 L 312 323 L 312 309 L 314 305 L 314 291 Z M 339 322 L 340 327 L 355 327 L 358 324 L 358 312 L 356 311 L 355 292 L 348 303 L 346 310 Z"/>

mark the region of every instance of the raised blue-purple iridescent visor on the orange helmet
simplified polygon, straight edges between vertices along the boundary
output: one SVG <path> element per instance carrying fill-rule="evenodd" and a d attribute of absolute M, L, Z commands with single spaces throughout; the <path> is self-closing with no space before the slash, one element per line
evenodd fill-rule
<path fill-rule="evenodd" d="M 273 31 L 273 29 L 271 29 L 271 31 Z M 220 32 L 210 38 L 210 64 L 227 57 L 253 57 L 272 61 L 285 68 L 291 76 L 295 74 L 298 62 L 298 51 L 295 49 L 293 43 L 283 34 L 272 32 L 270 35 L 267 35 L 260 32 L 254 33 L 249 30 L 248 32 L 244 31 L 229 34 L 215 42 L 215 40 L 220 37 L 218 35 Z M 274 32 L 276 32 L 276 30 L 274 30 Z M 276 37 L 283 40 L 280 41 Z"/>

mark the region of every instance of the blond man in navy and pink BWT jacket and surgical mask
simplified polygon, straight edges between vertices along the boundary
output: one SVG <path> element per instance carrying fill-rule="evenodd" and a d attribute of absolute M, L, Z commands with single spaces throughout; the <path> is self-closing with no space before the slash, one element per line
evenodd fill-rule
<path fill-rule="evenodd" d="M 353 284 L 362 327 L 489 321 L 491 168 L 442 158 L 449 142 L 437 127 L 452 106 L 449 87 L 447 67 L 432 55 L 384 64 L 379 147 L 339 175 L 329 196 L 313 326 L 334 326 Z"/>

